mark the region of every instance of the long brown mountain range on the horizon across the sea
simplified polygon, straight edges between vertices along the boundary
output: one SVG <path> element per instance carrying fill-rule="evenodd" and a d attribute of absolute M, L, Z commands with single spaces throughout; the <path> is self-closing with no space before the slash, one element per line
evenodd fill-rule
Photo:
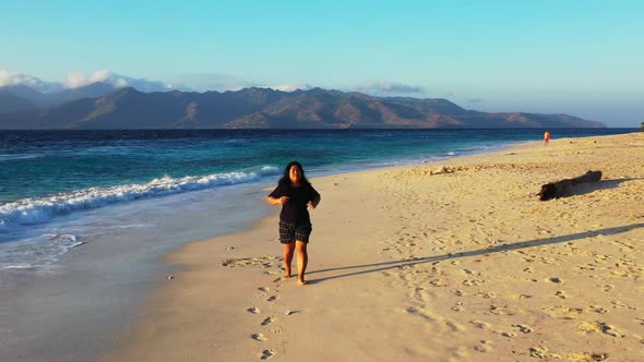
<path fill-rule="evenodd" d="M 606 128 L 569 114 L 487 113 L 442 98 L 322 88 L 142 93 L 106 83 L 41 94 L 0 87 L 0 130 Z"/>

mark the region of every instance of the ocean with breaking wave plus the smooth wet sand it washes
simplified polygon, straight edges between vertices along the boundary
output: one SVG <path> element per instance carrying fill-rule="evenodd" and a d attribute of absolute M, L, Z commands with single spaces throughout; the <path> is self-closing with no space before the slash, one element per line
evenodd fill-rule
<path fill-rule="evenodd" d="M 551 146 L 637 131 L 556 129 Z M 319 176 L 493 152 L 542 134 L 0 131 L 0 360 L 86 360 L 109 350 L 158 282 L 163 256 L 267 215 L 264 197 L 290 160 L 314 184 Z"/>

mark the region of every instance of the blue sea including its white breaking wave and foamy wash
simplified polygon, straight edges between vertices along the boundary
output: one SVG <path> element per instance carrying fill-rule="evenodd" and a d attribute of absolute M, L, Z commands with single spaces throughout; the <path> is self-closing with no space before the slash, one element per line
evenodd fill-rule
<path fill-rule="evenodd" d="M 136 208 L 146 200 L 145 210 L 138 215 L 163 212 L 167 197 L 274 184 L 294 159 L 314 177 L 490 152 L 539 141 L 542 131 L 0 131 L 0 272 L 56 263 L 72 248 L 90 242 L 88 234 L 102 233 L 98 217 L 85 227 L 72 225 L 115 205 Z M 637 130 L 554 130 L 552 141 L 633 131 Z M 213 217 L 229 206 L 224 201 L 216 204 Z M 235 227 L 226 230 L 230 228 Z"/>

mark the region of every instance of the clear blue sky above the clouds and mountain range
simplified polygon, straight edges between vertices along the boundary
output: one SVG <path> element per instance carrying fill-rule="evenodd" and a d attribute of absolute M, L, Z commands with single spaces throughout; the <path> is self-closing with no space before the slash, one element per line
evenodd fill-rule
<path fill-rule="evenodd" d="M 642 1 L 4 1 L 0 70 L 644 122 Z"/>

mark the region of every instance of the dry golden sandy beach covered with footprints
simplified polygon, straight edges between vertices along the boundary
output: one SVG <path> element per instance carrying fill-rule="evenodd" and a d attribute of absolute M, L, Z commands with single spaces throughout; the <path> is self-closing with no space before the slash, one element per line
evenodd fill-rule
<path fill-rule="evenodd" d="M 170 254 L 105 359 L 642 361 L 644 133 L 553 137 L 311 179 L 308 285 L 281 279 L 276 206 Z"/>

